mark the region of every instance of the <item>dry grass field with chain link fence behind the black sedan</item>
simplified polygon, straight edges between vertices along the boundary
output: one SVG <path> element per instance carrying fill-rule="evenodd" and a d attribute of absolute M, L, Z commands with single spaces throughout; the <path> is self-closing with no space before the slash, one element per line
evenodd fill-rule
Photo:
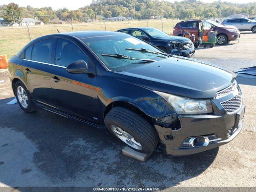
<path fill-rule="evenodd" d="M 0 54 L 6 54 L 7 58 L 10 59 L 31 40 L 48 34 L 56 34 L 58 33 L 57 29 L 62 33 L 84 30 L 116 31 L 121 28 L 154 27 L 170 34 L 177 22 L 178 20 L 138 20 L 3 27 L 0 28 Z"/>

